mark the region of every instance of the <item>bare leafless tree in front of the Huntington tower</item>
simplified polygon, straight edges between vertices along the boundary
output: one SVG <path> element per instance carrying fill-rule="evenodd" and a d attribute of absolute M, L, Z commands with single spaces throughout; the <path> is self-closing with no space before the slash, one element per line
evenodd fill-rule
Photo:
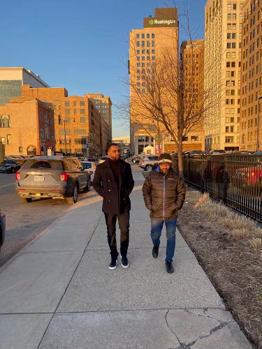
<path fill-rule="evenodd" d="M 189 38 L 187 52 L 191 51 L 191 58 L 179 52 L 175 29 L 173 33 L 169 31 L 165 44 L 158 45 L 155 58 L 150 56 L 144 64 L 137 53 L 136 40 L 130 40 L 130 77 L 122 79 L 126 89 L 130 90 L 130 96 L 128 102 L 117 106 L 133 127 L 143 129 L 154 137 L 159 146 L 159 135 L 170 135 L 177 147 L 180 176 L 183 176 L 183 140 L 190 132 L 203 130 L 208 113 L 217 106 L 216 96 L 221 94 L 217 81 L 211 83 L 208 90 L 204 89 L 208 73 L 201 57 L 204 40 L 201 45 L 194 40 L 196 31 L 190 30 L 188 10 L 184 10 L 183 17 L 184 30 Z M 198 58 L 194 57 L 197 50 Z M 142 64 L 134 64 L 136 61 Z"/>

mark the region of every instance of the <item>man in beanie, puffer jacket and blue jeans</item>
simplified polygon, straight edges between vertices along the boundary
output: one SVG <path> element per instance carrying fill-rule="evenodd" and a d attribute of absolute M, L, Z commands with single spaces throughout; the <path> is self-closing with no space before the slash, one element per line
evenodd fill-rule
<path fill-rule="evenodd" d="M 153 242 L 152 255 L 159 255 L 160 237 L 163 222 L 166 224 L 166 271 L 173 273 L 172 265 L 175 253 L 175 230 L 177 226 L 177 211 L 184 204 L 186 186 L 183 179 L 171 167 L 170 154 L 161 154 L 159 167 L 150 172 L 143 185 L 145 206 L 150 210 L 151 238 Z"/>

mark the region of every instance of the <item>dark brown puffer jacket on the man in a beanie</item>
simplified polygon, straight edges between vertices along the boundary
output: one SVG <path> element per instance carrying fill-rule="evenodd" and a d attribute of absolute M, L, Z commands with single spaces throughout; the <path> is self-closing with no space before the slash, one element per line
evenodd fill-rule
<path fill-rule="evenodd" d="M 176 218 L 185 195 L 184 181 L 173 168 L 165 175 L 157 168 L 147 175 L 143 185 L 145 206 L 150 210 L 150 217 L 155 219 Z"/>

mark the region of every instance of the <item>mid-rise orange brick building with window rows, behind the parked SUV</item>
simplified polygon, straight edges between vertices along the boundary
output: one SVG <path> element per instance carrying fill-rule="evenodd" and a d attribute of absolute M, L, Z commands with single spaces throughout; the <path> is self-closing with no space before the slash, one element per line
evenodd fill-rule
<path fill-rule="evenodd" d="M 103 154 L 105 144 L 111 140 L 112 129 L 87 95 L 68 96 L 64 88 L 25 85 L 22 96 L 38 98 L 54 110 L 57 151 L 81 156 Z"/>

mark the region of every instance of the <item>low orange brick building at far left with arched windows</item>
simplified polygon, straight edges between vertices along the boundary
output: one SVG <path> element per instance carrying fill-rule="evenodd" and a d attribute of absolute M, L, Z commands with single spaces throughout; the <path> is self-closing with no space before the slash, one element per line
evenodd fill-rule
<path fill-rule="evenodd" d="M 37 98 L 10 98 L 0 105 L 0 138 L 6 155 L 46 154 L 55 150 L 54 112 Z"/>

